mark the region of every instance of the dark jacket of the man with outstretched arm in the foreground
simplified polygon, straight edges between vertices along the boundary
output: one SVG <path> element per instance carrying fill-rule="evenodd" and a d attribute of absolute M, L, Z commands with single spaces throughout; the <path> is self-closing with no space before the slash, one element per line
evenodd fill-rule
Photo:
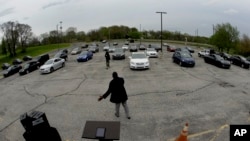
<path fill-rule="evenodd" d="M 112 103 L 121 103 L 128 100 L 126 90 L 124 88 L 124 79 L 121 77 L 113 78 L 109 83 L 109 88 L 106 93 L 103 95 L 103 98 L 106 98 L 111 94 L 110 102 Z"/>

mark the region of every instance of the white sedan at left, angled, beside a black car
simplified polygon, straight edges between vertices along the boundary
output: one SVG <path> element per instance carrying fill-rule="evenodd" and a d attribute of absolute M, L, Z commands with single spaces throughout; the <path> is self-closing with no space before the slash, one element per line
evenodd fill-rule
<path fill-rule="evenodd" d="M 42 65 L 39 68 L 39 71 L 41 74 L 43 73 L 51 73 L 59 68 L 62 68 L 65 66 L 65 60 L 62 58 L 52 58 L 45 62 L 44 65 Z"/>

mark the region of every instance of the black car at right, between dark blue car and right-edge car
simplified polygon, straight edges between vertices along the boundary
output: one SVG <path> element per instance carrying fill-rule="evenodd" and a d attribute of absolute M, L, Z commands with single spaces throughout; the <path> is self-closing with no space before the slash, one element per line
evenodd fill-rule
<path fill-rule="evenodd" d="M 229 61 L 225 60 L 224 58 L 222 58 L 220 55 L 217 55 L 217 54 L 205 55 L 204 61 L 206 63 L 212 64 L 221 68 L 229 69 L 231 66 L 231 63 Z"/>

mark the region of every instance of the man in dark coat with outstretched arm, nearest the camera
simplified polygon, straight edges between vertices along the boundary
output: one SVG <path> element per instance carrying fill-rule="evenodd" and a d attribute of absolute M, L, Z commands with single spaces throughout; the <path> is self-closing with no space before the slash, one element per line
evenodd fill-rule
<path fill-rule="evenodd" d="M 124 87 L 124 79 L 122 77 L 118 77 L 117 72 L 113 72 L 113 80 L 109 83 L 109 88 L 105 94 L 98 98 L 98 101 L 101 101 L 103 98 L 110 96 L 110 102 L 115 103 L 115 116 L 119 117 L 120 104 L 125 110 L 126 116 L 130 119 L 127 100 L 128 96 Z"/>

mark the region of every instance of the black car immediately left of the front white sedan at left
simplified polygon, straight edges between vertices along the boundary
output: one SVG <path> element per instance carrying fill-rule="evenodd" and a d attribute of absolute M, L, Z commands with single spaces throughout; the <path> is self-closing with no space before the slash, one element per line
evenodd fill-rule
<path fill-rule="evenodd" d="M 24 67 L 19 70 L 19 75 L 24 75 L 24 74 L 28 74 L 34 70 L 39 69 L 40 63 L 36 60 L 32 60 L 27 62 Z"/>

